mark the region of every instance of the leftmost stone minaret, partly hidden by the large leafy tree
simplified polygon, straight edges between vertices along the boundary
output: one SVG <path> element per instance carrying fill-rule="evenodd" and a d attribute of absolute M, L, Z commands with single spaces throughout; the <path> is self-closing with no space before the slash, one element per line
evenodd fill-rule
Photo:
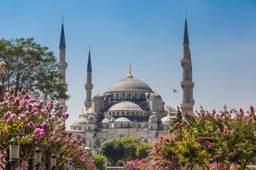
<path fill-rule="evenodd" d="M 66 43 L 65 43 L 65 35 L 64 35 L 64 26 L 63 26 L 63 15 L 62 15 L 62 27 L 61 27 L 61 39 L 59 46 L 59 62 L 57 63 L 59 72 L 64 76 L 61 79 L 61 83 L 66 83 Z M 67 87 L 66 87 L 67 88 Z M 62 114 L 67 112 L 66 100 L 59 100 L 58 103 L 63 106 Z"/>

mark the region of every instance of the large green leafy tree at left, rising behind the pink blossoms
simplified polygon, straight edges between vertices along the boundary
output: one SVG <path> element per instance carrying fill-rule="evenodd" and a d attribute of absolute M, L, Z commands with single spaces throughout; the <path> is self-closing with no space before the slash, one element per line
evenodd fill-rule
<path fill-rule="evenodd" d="M 41 47 L 34 38 L 0 40 L 0 60 L 6 63 L 6 72 L 0 78 L 6 90 L 15 86 L 14 96 L 23 89 L 33 98 L 47 104 L 51 100 L 69 99 L 67 84 L 58 72 L 56 58 L 48 47 Z"/>

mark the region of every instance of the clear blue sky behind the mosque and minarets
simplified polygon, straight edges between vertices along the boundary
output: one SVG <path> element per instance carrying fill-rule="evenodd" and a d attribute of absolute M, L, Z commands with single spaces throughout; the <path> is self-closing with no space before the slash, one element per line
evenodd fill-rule
<path fill-rule="evenodd" d="M 0 37 L 35 37 L 58 57 L 64 15 L 70 129 L 84 107 L 89 43 L 93 96 L 124 79 L 131 62 L 134 78 L 180 105 L 186 10 L 194 109 L 256 107 L 256 0 L 6 0 Z"/>

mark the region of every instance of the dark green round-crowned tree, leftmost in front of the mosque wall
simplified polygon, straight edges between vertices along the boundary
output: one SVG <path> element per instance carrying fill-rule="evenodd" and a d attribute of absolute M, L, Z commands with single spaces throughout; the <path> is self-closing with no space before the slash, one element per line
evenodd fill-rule
<path fill-rule="evenodd" d="M 110 139 L 101 144 L 102 154 L 116 167 L 117 162 L 124 158 L 125 145 L 119 139 Z"/>

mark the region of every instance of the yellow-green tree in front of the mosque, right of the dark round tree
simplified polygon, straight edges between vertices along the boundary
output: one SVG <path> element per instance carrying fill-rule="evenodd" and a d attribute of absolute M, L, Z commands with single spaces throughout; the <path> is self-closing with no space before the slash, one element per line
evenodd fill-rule
<path fill-rule="evenodd" d="M 121 138 L 118 139 L 125 144 L 126 151 L 124 161 L 131 161 L 137 159 L 136 150 L 140 144 L 138 139 L 134 136 L 122 136 Z"/>

